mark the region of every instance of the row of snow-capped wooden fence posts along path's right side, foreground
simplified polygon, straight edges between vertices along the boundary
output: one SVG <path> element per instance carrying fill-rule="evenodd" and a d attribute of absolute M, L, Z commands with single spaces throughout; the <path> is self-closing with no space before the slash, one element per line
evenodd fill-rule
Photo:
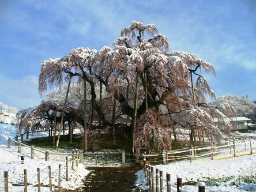
<path fill-rule="evenodd" d="M 144 162 L 146 159 L 144 159 Z M 184 188 L 182 188 L 182 177 L 177 176 L 177 185 L 171 183 L 171 175 L 170 173 L 166 173 L 166 179 L 163 177 L 163 171 L 158 168 L 154 168 L 154 166 L 144 164 L 143 170 L 145 173 L 145 177 L 147 177 L 147 184 L 149 185 L 150 192 L 163 192 L 164 186 L 166 186 L 167 192 L 171 192 L 171 188 L 177 188 L 177 192 L 186 192 Z M 198 183 L 198 191 L 205 192 L 205 183 Z"/>

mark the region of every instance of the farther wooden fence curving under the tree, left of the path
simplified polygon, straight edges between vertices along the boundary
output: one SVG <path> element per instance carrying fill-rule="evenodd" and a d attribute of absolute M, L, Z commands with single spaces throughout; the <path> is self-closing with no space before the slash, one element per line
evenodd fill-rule
<path fill-rule="evenodd" d="M 17 137 L 16 137 L 17 138 Z M 45 159 L 45 161 L 49 161 L 49 159 L 54 157 L 54 161 L 57 159 L 55 158 L 56 156 L 59 156 L 62 158 L 62 161 L 65 161 L 65 156 L 69 157 L 69 160 L 72 161 L 72 168 L 74 167 L 74 163 L 78 166 L 78 163 L 84 163 L 84 158 L 87 155 L 94 155 L 96 157 L 96 162 L 95 164 L 98 164 L 98 155 L 107 155 L 107 154 L 121 154 L 121 162 L 122 166 L 125 166 L 125 151 L 120 151 L 120 152 L 83 152 L 79 150 L 72 150 L 72 153 L 56 153 L 56 152 L 50 152 L 50 151 L 41 151 L 34 146 L 28 146 L 21 141 L 17 141 L 16 139 L 13 140 L 11 138 L 8 138 L 8 148 L 11 148 L 11 142 L 14 143 L 14 145 L 18 146 L 18 153 L 27 154 L 30 156 L 31 159 L 34 159 L 35 156 L 35 151 L 37 151 L 37 155 L 39 159 Z M 26 149 L 29 149 L 29 151 L 23 150 L 23 147 Z"/>

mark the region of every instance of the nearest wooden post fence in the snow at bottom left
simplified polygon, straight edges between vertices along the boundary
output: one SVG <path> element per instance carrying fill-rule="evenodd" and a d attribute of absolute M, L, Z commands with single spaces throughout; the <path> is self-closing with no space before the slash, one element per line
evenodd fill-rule
<path fill-rule="evenodd" d="M 43 180 L 41 180 L 40 174 L 41 173 L 46 173 L 47 177 L 45 177 Z M 44 171 L 41 170 L 40 173 L 40 168 L 37 168 L 37 171 L 35 173 L 32 174 L 27 174 L 27 170 L 24 169 L 23 175 L 19 175 L 19 176 L 15 176 L 15 177 L 10 177 L 11 175 L 8 173 L 8 171 L 4 172 L 4 178 L 0 179 L 0 181 L 4 181 L 4 192 L 14 192 L 14 191 L 24 191 L 24 192 L 29 192 L 31 190 L 32 187 L 37 187 L 38 188 L 38 192 L 41 192 L 41 186 L 42 186 L 42 182 L 45 180 L 48 180 L 47 184 L 44 184 L 44 187 L 49 187 L 49 191 L 53 190 L 53 184 L 52 184 L 52 180 L 54 180 L 56 177 L 54 177 L 54 175 L 52 175 L 53 172 L 58 172 L 58 188 L 61 188 L 61 164 L 59 164 L 59 169 L 56 170 L 51 170 L 51 166 L 48 166 L 48 171 Z M 28 184 L 28 179 L 27 177 L 34 177 L 37 176 L 37 182 L 34 182 L 33 184 Z M 11 182 L 9 182 L 9 179 L 11 178 L 17 178 L 17 177 L 23 177 L 23 183 L 19 183 L 19 184 L 13 184 Z M 66 166 L 66 181 L 68 181 L 68 166 Z M 9 187 L 9 184 L 11 183 L 11 187 Z M 30 188 L 30 190 L 29 190 Z"/>

